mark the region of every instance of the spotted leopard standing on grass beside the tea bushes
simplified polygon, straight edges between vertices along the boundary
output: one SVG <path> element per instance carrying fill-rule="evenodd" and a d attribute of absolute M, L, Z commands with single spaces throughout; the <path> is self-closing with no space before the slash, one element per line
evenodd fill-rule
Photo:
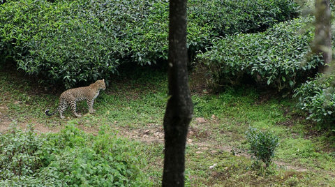
<path fill-rule="evenodd" d="M 61 93 L 61 96 L 59 96 L 59 105 L 57 107 L 57 110 L 52 113 L 49 113 L 50 110 L 45 110 L 45 114 L 50 117 L 59 112 L 61 119 L 64 119 L 65 117 L 63 115 L 63 112 L 68 106 L 70 106 L 70 109 L 75 117 L 82 117 L 82 115 L 77 114 L 76 112 L 77 102 L 80 100 L 87 101 L 89 113 L 92 114 L 96 112 L 96 110 L 93 109 L 93 104 L 96 97 L 98 97 L 101 89 L 106 89 L 105 79 L 97 80 L 96 82 L 90 84 L 87 87 L 68 89 Z"/>

